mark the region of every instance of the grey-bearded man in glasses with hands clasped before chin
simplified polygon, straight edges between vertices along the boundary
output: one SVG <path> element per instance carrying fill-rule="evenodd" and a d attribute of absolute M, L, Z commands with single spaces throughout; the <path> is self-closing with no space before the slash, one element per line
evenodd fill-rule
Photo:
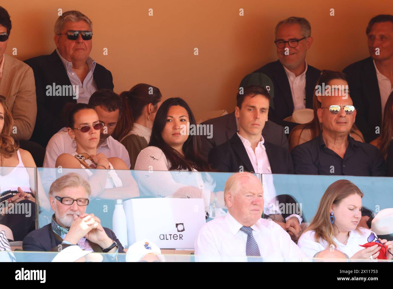
<path fill-rule="evenodd" d="M 101 226 L 94 214 L 87 214 L 90 184 L 77 173 L 68 173 L 55 180 L 49 190 L 52 210 L 51 224 L 30 232 L 23 240 L 24 251 L 59 252 L 70 245 L 83 250 L 124 253 L 114 232 Z"/>

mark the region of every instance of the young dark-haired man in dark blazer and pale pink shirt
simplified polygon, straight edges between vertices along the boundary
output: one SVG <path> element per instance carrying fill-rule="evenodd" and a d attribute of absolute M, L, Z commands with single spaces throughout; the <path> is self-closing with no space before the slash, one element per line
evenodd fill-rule
<path fill-rule="evenodd" d="M 265 142 L 261 135 L 268 120 L 270 96 L 268 91 L 253 85 L 244 88 L 244 94 L 237 94 L 235 116 L 239 119 L 239 132 L 230 140 L 209 152 L 208 162 L 212 168 L 221 172 L 249 171 L 261 174 L 293 174 L 292 157 L 288 149 Z M 265 190 L 266 201 L 275 197 L 271 178 Z M 278 196 L 280 202 L 295 202 L 289 196 Z M 283 213 L 283 212 L 281 212 Z M 269 214 L 270 215 L 270 214 Z M 272 214 L 275 215 L 275 214 Z M 302 221 L 296 214 L 282 214 L 286 223 L 279 223 L 295 239 L 300 236 Z"/>

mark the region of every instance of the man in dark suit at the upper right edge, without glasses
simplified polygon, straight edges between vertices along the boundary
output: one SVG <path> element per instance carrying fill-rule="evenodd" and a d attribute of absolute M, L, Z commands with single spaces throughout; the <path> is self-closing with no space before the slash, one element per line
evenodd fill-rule
<path fill-rule="evenodd" d="M 385 104 L 393 92 L 393 15 L 373 17 L 366 35 L 370 57 L 350 64 L 343 72 L 348 75 L 358 111 L 356 125 L 365 142 L 371 142 L 380 136 Z"/>

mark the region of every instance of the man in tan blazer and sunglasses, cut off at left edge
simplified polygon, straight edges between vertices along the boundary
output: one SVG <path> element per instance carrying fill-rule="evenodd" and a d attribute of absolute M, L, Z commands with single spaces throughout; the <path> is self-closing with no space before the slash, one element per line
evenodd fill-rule
<path fill-rule="evenodd" d="M 34 74 L 27 64 L 5 54 L 11 27 L 7 10 L 0 6 L 0 95 L 7 99 L 14 119 L 16 129 L 13 129 L 11 136 L 17 140 L 28 140 L 33 133 L 37 114 Z M 31 152 L 24 144 L 20 143 Z"/>

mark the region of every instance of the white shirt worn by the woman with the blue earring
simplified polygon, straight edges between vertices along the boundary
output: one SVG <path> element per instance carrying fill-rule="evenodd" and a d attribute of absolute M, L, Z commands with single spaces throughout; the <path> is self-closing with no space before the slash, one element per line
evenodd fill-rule
<path fill-rule="evenodd" d="M 337 241 L 335 237 L 333 237 L 333 241 L 337 245 L 337 250 L 345 253 L 351 258 L 358 251 L 365 249 L 364 247 L 360 247 L 359 245 L 364 245 L 368 243 L 367 238 L 372 233 L 371 230 L 366 228 L 359 228 L 361 233 L 356 230 L 349 232 L 349 238 L 347 241 L 347 245 L 344 245 Z M 307 255 L 307 257 L 312 258 L 314 255 L 320 251 L 325 249 L 329 249 L 326 241 L 320 240 L 316 242 L 314 239 L 315 231 L 307 231 L 303 235 L 301 235 L 298 245 L 300 249 Z M 376 236 L 376 234 L 375 234 Z"/>

